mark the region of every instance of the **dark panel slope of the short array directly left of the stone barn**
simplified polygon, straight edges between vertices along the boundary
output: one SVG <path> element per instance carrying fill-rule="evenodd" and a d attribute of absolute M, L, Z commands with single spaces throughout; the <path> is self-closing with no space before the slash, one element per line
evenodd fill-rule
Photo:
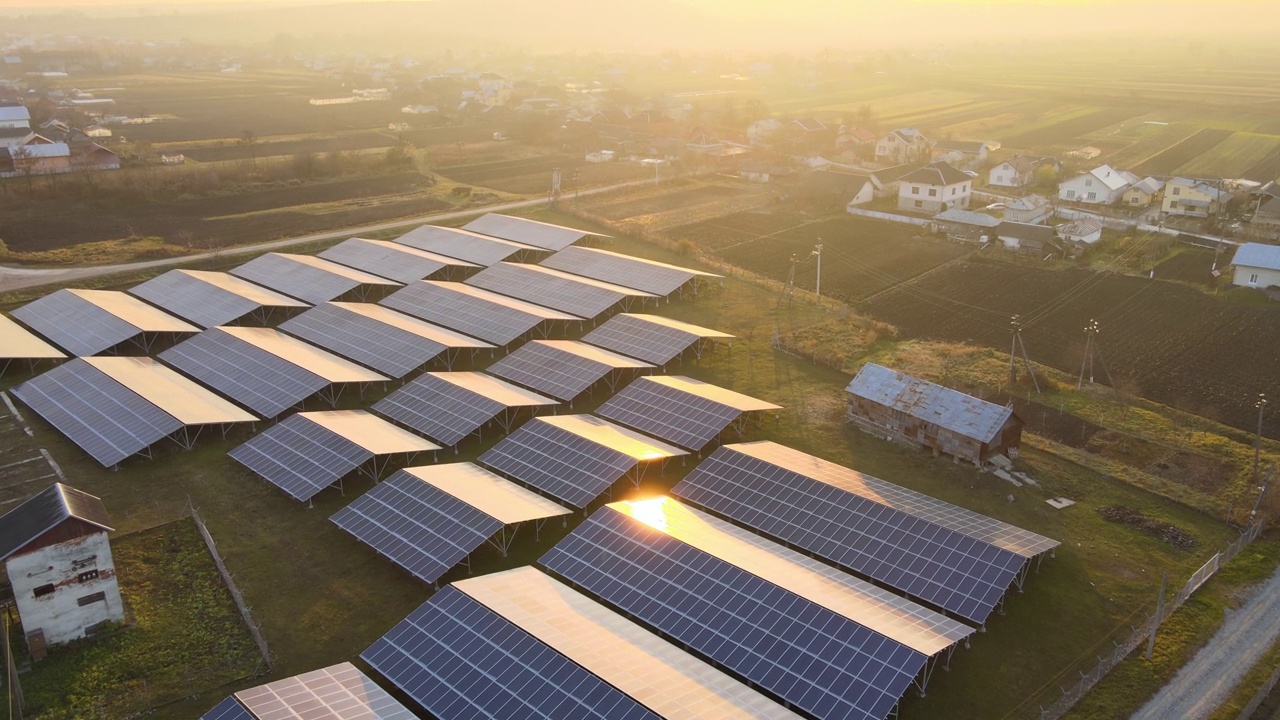
<path fill-rule="evenodd" d="M 742 411 L 648 378 L 637 378 L 595 414 L 696 451 L 718 438 Z"/>

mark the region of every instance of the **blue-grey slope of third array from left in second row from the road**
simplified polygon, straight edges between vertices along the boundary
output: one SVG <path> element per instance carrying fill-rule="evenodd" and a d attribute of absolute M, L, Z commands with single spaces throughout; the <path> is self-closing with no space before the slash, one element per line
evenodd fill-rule
<path fill-rule="evenodd" d="M 393 378 L 403 378 L 448 350 L 329 302 L 280 323 L 280 329 Z"/>

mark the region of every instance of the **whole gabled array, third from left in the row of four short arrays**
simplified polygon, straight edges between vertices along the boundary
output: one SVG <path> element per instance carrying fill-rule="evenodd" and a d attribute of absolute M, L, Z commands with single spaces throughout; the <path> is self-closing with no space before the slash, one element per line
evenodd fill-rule
<path fill-rule="evenodd" d="M 494 363 L 489 372 L 557 400 L 572 402 L 595 383 L 609 378 L 614 370 L 644 368 L 650 365 L 581 342 L 538 340 Z"/>

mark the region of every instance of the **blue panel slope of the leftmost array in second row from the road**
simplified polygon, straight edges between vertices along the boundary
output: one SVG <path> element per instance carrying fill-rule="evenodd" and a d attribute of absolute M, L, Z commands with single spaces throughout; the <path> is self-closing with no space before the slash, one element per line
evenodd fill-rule
<path fill-rule="evenodd" d="M 182 429 L 175 418 L 81 359 L 27 380 L 13 395 L 106 468 Z"/>

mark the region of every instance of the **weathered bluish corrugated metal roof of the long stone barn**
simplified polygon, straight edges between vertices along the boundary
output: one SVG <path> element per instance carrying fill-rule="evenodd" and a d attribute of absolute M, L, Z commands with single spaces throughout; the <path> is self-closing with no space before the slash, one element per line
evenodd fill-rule
<path fill-rule="evenodd" d="M 991 442 L 1014 414 L 1011 407 L 987 402 L 874 363 L 863 365 L 858 377 L 845 389 L 979 442 Z"/>

